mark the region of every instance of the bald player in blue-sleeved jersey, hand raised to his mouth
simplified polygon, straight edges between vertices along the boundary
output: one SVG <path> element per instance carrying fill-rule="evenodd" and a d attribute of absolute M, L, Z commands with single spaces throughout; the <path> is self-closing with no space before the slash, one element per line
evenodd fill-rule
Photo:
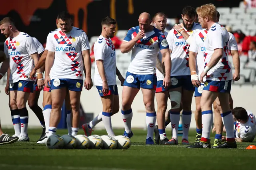
<path fill-rule="evenodd" d="M 156 91 L 156 59 L 160 50 L 165 67 L 164 88 L 170 84 L 171 60 L 169 46 L 164 34 L 150 25 L 150 14 L 140 14 L 139 26 L 128 30 L 121 44 L 121 52 L 128 53 L 132 50 L 131 63 L 126 73 L 126 80 L 122 91 L 122 118 L 124 121 L 124 136 L 132 137 L 132 102 L 141 89 L 143 102 L 146 108 L 146 125 L 148 134 L 146 144 L 154 144 L 153 134 L 156 123 L 154 107 L 154 94 Z M 165 132 L 164 132 L 165 134 Z"/>

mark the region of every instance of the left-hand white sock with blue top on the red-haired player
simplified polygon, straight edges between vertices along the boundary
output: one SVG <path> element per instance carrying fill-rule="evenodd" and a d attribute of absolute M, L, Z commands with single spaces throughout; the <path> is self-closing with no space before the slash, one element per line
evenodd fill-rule
<path fill-rule="evenodd" d="M 201 140 L 204 142 L 208 142 L 210 139 L 210 132 L 212 129 L 213 115 L 212 110 L 202 111 L 202 138 Z M 234 131 L 233 131 L 234 133 Z"/>

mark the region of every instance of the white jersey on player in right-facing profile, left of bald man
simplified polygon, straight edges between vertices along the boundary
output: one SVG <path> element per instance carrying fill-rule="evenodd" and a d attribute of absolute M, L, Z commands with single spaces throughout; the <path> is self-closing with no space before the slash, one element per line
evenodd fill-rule
<path fill-rule="evenodd" d="M 110 38 L 100 35 L 94 43 L 95 60 L 103 60 L 108 85 L 116 85 L 116 49 Z M 94 84 L 102 86 L 102 79 L 95 64 Z"/>

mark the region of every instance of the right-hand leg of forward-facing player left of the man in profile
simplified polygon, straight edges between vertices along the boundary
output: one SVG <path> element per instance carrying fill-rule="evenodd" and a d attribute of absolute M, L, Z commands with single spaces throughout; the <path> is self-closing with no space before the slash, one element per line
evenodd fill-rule
<path fill-rule="evenodd" d="M 72 109 L 72 136 L 76 136 L 80 121 L 80 97 L 81 91 L 69 91 L 70 105 Z"/>

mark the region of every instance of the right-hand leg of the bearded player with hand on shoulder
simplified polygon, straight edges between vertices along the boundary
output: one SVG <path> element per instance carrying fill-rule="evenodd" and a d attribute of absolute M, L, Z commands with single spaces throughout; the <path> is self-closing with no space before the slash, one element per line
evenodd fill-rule
<path fill-rule="evenodd" d="M 191 104 L 193 98 L 194 91 L 188 91 L 183 89 L 182 91 L 182 104 L 183 104 L 183 111 L 182 111 L 182 144 L 189 144 L 188 142 L 188 132 L 191 123 Z"/>

